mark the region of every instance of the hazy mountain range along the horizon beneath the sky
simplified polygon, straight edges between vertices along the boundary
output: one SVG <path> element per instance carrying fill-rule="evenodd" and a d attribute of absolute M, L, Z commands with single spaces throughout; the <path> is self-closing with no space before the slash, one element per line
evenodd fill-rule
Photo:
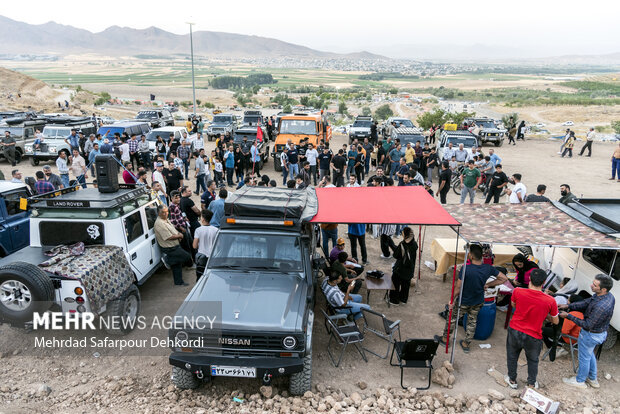
<path fill-rule="evenodd" d="M 32 25 L 0 16 L 0 53 L 100 53 L 120 56 L 189 54 L 189 34 L 177 35 L 157 27 L 131 29 L 112 26 L 102 32 L 54 22 Z M 194 53 L 223 57 L 296 57 L 387 59 L 369 52 L 337 54 L 259 36 L 194 32 Z"/>

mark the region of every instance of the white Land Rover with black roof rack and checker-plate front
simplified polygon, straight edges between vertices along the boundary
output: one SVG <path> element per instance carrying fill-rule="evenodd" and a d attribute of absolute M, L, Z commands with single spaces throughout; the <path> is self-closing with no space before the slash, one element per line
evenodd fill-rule
<path fill-rule="evenodd" d="M 111 193 L 100 192 L 101 186 L 78 188 L 28 200 L 30 246 L 0 259 L 0 322 L 24 326 L 34 312 L 50 309 L 138 316 L 137 286 L 161 264 L 153 230 L 160 201 L 143 186 L 120 185 Z M 63 267 L 62 258 L 57 266 L 44 266 L 50 260 L 44 252 L 59 245 L 79 249 L 80 242 L 84 252 L 69 254 L 71 266 Z M 131 329 L 133 324 L 108 332 Z"/>

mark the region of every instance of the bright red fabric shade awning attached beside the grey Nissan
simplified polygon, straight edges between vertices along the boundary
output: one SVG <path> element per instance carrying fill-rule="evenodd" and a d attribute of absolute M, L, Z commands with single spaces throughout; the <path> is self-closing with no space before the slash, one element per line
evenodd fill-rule
<path fill-rule="evenodd" d="M 460 226 L 421 186 L 317 188 L 316 195 L 314 223 Z"/>

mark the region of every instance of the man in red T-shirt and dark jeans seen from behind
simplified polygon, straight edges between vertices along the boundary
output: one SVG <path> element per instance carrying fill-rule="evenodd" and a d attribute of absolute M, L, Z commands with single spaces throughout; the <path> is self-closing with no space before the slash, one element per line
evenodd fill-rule
<path fill-rule="evenodd" d="M 510 388 L 517 388 L 517 361 L 521 350 L 527 359 L 527 384 L 538 388 L 538 358 L 542 349 L 542 325 L 545 320 L 557 325 L 560 321 L 558 305 L 551 296 L 542 291 L 547 274 L 534 269 L 529 288 L 516 288 L 512 292 L 515 309 L 506 337 L 506 361 L 508 375 L 504 378 Z"/>

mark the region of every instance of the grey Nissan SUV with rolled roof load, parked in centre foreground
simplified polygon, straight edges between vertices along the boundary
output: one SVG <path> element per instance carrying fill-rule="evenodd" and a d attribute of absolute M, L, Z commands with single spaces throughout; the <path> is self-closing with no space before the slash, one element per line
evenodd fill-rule
<path fill-rule="evenodd" d="M 290 391 L 311 390 L 315 252 L 314 190 L 250 187 L 226 200 L 226 215 L 204 275 L 176 314 L 203 315 L 221 303 L 217 332 L 171 329 L 174 341 L 202 338 L 194 348 L 172 347 L 172 382 L 196 388 L 212 377 L 290 376 Z M 216 322 L 217 323 L 217 322 Z"/>

